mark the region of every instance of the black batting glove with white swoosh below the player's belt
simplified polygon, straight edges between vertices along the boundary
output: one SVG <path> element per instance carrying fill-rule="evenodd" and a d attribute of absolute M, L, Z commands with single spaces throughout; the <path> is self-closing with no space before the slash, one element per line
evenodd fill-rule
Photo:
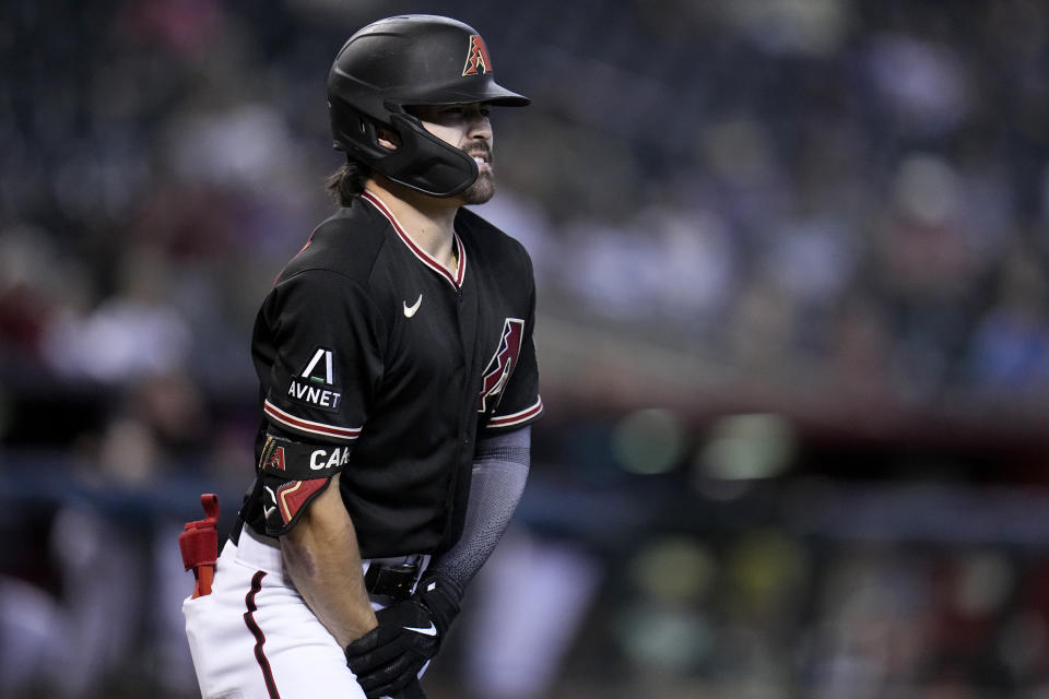
<path fill-rule="evenodd" d="M 391 696 L 419 677 L 440 649 L 461 599 L 459 585 L 431 576 L 411 597 L 376 612 L 379 625 L 346 647 L 346 664 L 368 699 Z"/>

